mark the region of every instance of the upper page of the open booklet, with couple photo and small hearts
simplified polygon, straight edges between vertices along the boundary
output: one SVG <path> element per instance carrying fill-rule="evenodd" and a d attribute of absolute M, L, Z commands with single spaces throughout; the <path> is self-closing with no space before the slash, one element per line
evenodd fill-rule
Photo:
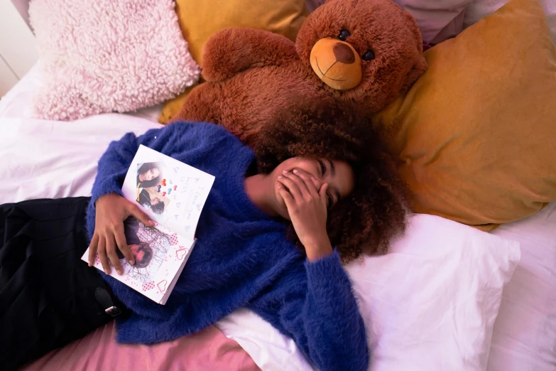
<path fill-rule="evenodd" d="M 194 240 L 213 183 L 214 176 L 141 145 L 122 193 L 155 222 Z"/>

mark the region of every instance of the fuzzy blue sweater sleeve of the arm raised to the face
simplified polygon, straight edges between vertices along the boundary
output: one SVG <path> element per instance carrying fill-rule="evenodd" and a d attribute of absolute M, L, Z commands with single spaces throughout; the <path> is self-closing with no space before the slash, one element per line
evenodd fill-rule
<path fill-rule="evenodd" d="M 306 285 L 297 274 L 276 283 L 251 305 L 289 335 L 318 370 L 361 370 L 369 365 L 366 331 L 351 282 L 337 252 L 305 262 Z"/>

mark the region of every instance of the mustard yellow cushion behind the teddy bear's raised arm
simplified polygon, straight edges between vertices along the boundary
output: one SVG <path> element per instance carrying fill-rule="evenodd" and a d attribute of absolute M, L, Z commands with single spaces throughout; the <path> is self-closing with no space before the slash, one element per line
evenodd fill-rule
<path fill-rule="evenodd" d="M 202 67 L 202 48 L 216 31 L 251 27 L 279 33 L 292 41 L 307 16 L 305 0 L 176 0 L 176 13 L 189 51 Z M 195 87 L 195 86 L 193 86 Z M 163 105 L 159 121 L 168 122 L 181 109 L 193 87 Z"/>

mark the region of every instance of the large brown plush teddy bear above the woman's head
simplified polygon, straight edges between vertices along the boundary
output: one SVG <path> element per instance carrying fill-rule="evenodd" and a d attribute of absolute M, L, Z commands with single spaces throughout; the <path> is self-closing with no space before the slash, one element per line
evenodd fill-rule
<path fill-rule="evenodd" d="M 203 50 L 207 82 L 173 121 L 222 124 L 252 145 L 293 97 L 349 104 L 369 117 L 425 72 L 422 54 L 415 19 L 392 0 L 329 0 L 307 17 L 295 43 L 254 28 L 214 33 Z"/>

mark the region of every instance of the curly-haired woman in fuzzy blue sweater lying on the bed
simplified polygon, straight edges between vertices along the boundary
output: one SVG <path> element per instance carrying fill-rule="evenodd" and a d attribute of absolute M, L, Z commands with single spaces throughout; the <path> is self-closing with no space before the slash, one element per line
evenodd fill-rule
<path fill-rule="evenodd" d="M 383 251 L 403 230 L 403 188 L 354 120 L 290 110 L 261 134 L 256 155 L 214 124 L 130 133 L 100 158 L 92 198 L 1 206 L 0 364 L 11 369 L 84 336 L 111 321 L 112 306 L 122 311 L 118 340 L 143 344 L 196 333 L 244 307 L 318 369 L 366 370 L 364 323 L 342 261 L 364 242 Z M 109 261 L 121 272 L 117 249 L 133 264 L 123 222 L 151 221 L 121 185 L 140 144 L 216 177 L 165 306 L 80 261 L 90 241 L 89 259 L 97 252 L 107 272 Z"/>

